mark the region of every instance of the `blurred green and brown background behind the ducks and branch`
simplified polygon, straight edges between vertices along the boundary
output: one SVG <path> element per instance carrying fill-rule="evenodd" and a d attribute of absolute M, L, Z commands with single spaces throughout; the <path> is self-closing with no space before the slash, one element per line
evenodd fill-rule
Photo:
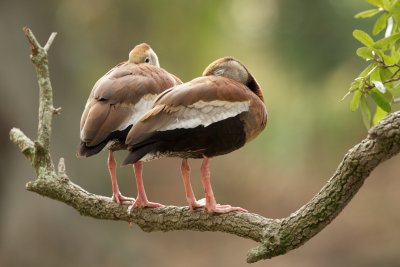
<path fill-rule="evenodd" d="M 95 81 L 148 42 L 162 67 L 188 81 L 213 60 L 234 56 L 263 88 L 266 131 L 241 150 L 213 159 L 217 200 L 266 217 L 285 217 L 306 203 L 366 136 L 348 99 L 339 102 L 365 65 L 351 32 L 364 1 L 77 1 L 0 2 L 0 266 L 248 266 L 253 241 L 222 233 L 144 233 L 127 223 L 80 216 L 65 204 L 27 192 L 34 172 L 8 140 L 20 127 L 34 138 L 38 90 L 29 26 L 50 50 L 55 105 L 52 155 L 64 157 L 73 182 L 111 195 L 106 153 L 77 159 L 79 120 Z M 118 153 L 121 159 L 126 152 Z M 185 205 L 180 161 L 146 164 L 150 200 Z M 192 181 L 201 197 L 200 162 Z M 254 266 L 400 266 L 400 158 L 377 168 L 324 231 L 287 255 Z M 122 192 L 136 195 L 133 172 L 118 169 Z"/>

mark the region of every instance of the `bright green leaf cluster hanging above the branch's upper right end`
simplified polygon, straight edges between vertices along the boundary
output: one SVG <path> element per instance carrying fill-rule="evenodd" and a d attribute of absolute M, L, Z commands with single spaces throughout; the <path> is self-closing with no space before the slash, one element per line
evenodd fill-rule
<path fill-rule="evenodd" d="M 365 31 L 353 32 L 354 38 L 364 45 L 357 49 L 357 55 L 369 65 L 351 84 L 348 94 L 353 94 L 351 111 L 360 109 L 364 125 L 369 128 L 391 112 L 393 104 L 400 103 L 400 2 L 366 1 L 375 8 L 355 17 L 376 18 L 372 28 L 376 40 Z"/>

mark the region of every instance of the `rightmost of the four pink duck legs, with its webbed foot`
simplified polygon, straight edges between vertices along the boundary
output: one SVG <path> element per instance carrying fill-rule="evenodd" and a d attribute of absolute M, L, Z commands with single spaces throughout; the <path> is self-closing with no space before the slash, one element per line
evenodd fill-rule
<path fill-rule="evenodd" d="M 203 184 L 204 192 L 206 195 L 206 206 L 205 206 L 206 212 L 208 213 L 213 213 L 213 212 L 227 213 L 231 211 L 247 212 L 247 210 L 242 209 L 240 207 L 232 207 L 230 205 L 217 204 L 210 183 L 210 169 L 208 167 L 208 162 L 209 159 L 204 158 L 203 163 L 201 164 L 201 183 Z"/>

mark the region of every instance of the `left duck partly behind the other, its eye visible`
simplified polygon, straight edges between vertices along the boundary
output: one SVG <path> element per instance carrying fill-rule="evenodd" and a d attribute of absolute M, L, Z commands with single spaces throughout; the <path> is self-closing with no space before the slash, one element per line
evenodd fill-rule
<path fill-rule="evenodd" d="M 148 44 L 135 46 L 129 59 L 108 71 L 94 85 L 80 123 L 81 143 L 77 155 L 89 157 L 108 149 L 112 198 L 117 203 L 135 201 L 121 194 L 113 151 L 125 149 L 125 138 L 133 124 L 153 105 L 164 90 L 181 84 L 179 78 L 160 68 Z M 135 164 L 135 170 L 137 169 Z M 141 174 L 140 174 L 141 175 Z M 144 190 L 138 188 L 138 191 Z M 161 206 L 159 203 L 144 203 Z"/>

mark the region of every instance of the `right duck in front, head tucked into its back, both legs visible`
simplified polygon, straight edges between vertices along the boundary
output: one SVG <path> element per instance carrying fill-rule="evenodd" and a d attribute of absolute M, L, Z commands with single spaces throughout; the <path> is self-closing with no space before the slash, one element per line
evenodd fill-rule
<path fill-rule="evenodd" d="M 154 107 L 130 129 L 129 155 L 123 164 L 160 157 L 182 158 L 181 173 L 190 208 L 209 213 L 246 211 L 217 204 L 210 184 L 209 158 L 230 153 L 254 139 L 266 126 L 260 86 L 239 61 L 225 57 L 203 76 L 160 94 Z M 205 200 L 197 201 L 190 184 L 188 158 L 203 158 Z"/>

